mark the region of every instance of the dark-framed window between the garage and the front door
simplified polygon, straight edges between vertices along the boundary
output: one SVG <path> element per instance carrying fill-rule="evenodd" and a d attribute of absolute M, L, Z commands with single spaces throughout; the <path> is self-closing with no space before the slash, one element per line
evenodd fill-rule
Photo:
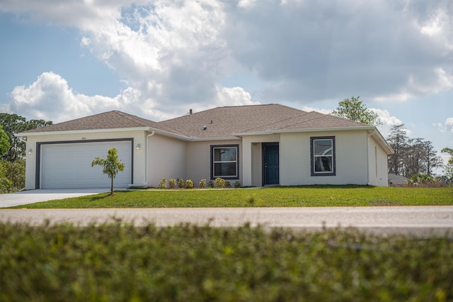
<path fill-rule="evenodd" d="M 211 178 L 239 178 L 239 145 L 211 146 Z"/>

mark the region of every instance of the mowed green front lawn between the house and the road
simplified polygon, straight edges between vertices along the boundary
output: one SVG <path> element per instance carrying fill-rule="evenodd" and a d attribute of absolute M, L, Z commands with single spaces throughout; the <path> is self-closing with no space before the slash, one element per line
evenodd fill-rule
<path fill-rule="evenodd" d="M 117 191 L 16 208 L 178 208 L 453 205 L 452 188 L 301 186 L 227 190 Z"/>

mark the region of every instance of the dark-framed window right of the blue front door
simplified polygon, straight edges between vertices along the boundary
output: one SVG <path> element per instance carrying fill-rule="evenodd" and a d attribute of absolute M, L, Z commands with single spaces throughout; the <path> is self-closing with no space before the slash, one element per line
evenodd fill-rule
<path fill-rule="evenodd" d="M 310 138 L 311 176 L 336 175 L 335 137 Z"/>

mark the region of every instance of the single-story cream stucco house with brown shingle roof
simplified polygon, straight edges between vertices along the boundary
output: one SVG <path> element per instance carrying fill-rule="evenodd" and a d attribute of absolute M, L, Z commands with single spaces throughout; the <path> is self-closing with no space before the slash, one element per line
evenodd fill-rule
<path fill-rule="evenodd" d="M 226 106 L 154 122 L 120 111 L 18 133 L 25 189 L 108 187 L 95 157 L 115 147 L 116 187 L 222 177 L 243 186 L 387 186 L 393 151 L 374 126 L 279 104 Z"/>

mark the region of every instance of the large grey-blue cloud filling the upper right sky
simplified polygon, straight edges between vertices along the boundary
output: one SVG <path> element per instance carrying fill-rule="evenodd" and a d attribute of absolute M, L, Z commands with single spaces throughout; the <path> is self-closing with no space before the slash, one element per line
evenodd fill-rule
<path fill-rule="evenodd" d="M 262 99 L 316 101 L 360 95 L 395 101 L 452 87 L 451 27 L 425 35 L 422 16 L 442 11 L 448 1 L 277 1 L 226 14 L 231 54 L 268 80 Z M 272 20 L 272 22 L 270 22 Z M 278 83 L 275 85 L 275 83 Z"/>

